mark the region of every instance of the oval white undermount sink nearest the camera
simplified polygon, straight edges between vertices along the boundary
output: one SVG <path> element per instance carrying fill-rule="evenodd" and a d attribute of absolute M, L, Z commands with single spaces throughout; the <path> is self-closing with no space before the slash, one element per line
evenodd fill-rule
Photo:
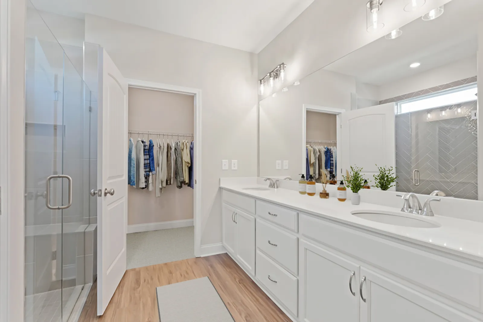
<path fill-rule="evenodd" d="M 404 213 L 402 211 L 399 213 L 379 210 L 354 210 L 351 213 L 356 217 L 382 224 L 415 228 L 437 228 L 441 226 L 437 222 L 426 219 L 421 215 Z M 421 216 L 421 218 L 416 216 Z"/>

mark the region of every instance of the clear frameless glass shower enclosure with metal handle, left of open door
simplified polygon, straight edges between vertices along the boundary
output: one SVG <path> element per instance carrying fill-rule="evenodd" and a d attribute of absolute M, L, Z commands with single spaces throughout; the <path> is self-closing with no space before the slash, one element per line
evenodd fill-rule
<path fill-rule="evenodd" d="M 91 94 L 31 3 L 25 91 L 25 321 L 67 322 L 85 286 Z"/>

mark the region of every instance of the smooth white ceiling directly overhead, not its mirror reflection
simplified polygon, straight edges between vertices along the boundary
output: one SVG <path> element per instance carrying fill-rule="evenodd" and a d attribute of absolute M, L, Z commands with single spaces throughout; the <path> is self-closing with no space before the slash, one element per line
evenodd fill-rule
<path fill-rule="evenodd" d="M 39 10 L 102 17 L 258 53 L 313 0 L 32 0 Z"/>

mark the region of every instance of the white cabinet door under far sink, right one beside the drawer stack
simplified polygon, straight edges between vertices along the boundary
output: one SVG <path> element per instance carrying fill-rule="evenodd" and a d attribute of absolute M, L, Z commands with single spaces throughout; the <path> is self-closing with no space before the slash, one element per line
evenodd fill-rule
<path fill-rule="evenodd" d="M 255 217 L 240 210 L 235 211 L 237 258 L 250 273 L 255 275 Z"/>

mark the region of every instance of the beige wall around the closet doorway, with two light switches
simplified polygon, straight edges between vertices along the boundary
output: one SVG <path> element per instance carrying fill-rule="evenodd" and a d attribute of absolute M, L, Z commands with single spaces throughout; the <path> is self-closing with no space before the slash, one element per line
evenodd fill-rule
<path fill-rule="evenodd" d="M 89 14 L 85 41 L 126 78 L 201 89 L 201 245 L 221 243 L 220 177 L 257 174 L 256 55 Z M 238 170 L 223 171 L 223 159 Z"/>

